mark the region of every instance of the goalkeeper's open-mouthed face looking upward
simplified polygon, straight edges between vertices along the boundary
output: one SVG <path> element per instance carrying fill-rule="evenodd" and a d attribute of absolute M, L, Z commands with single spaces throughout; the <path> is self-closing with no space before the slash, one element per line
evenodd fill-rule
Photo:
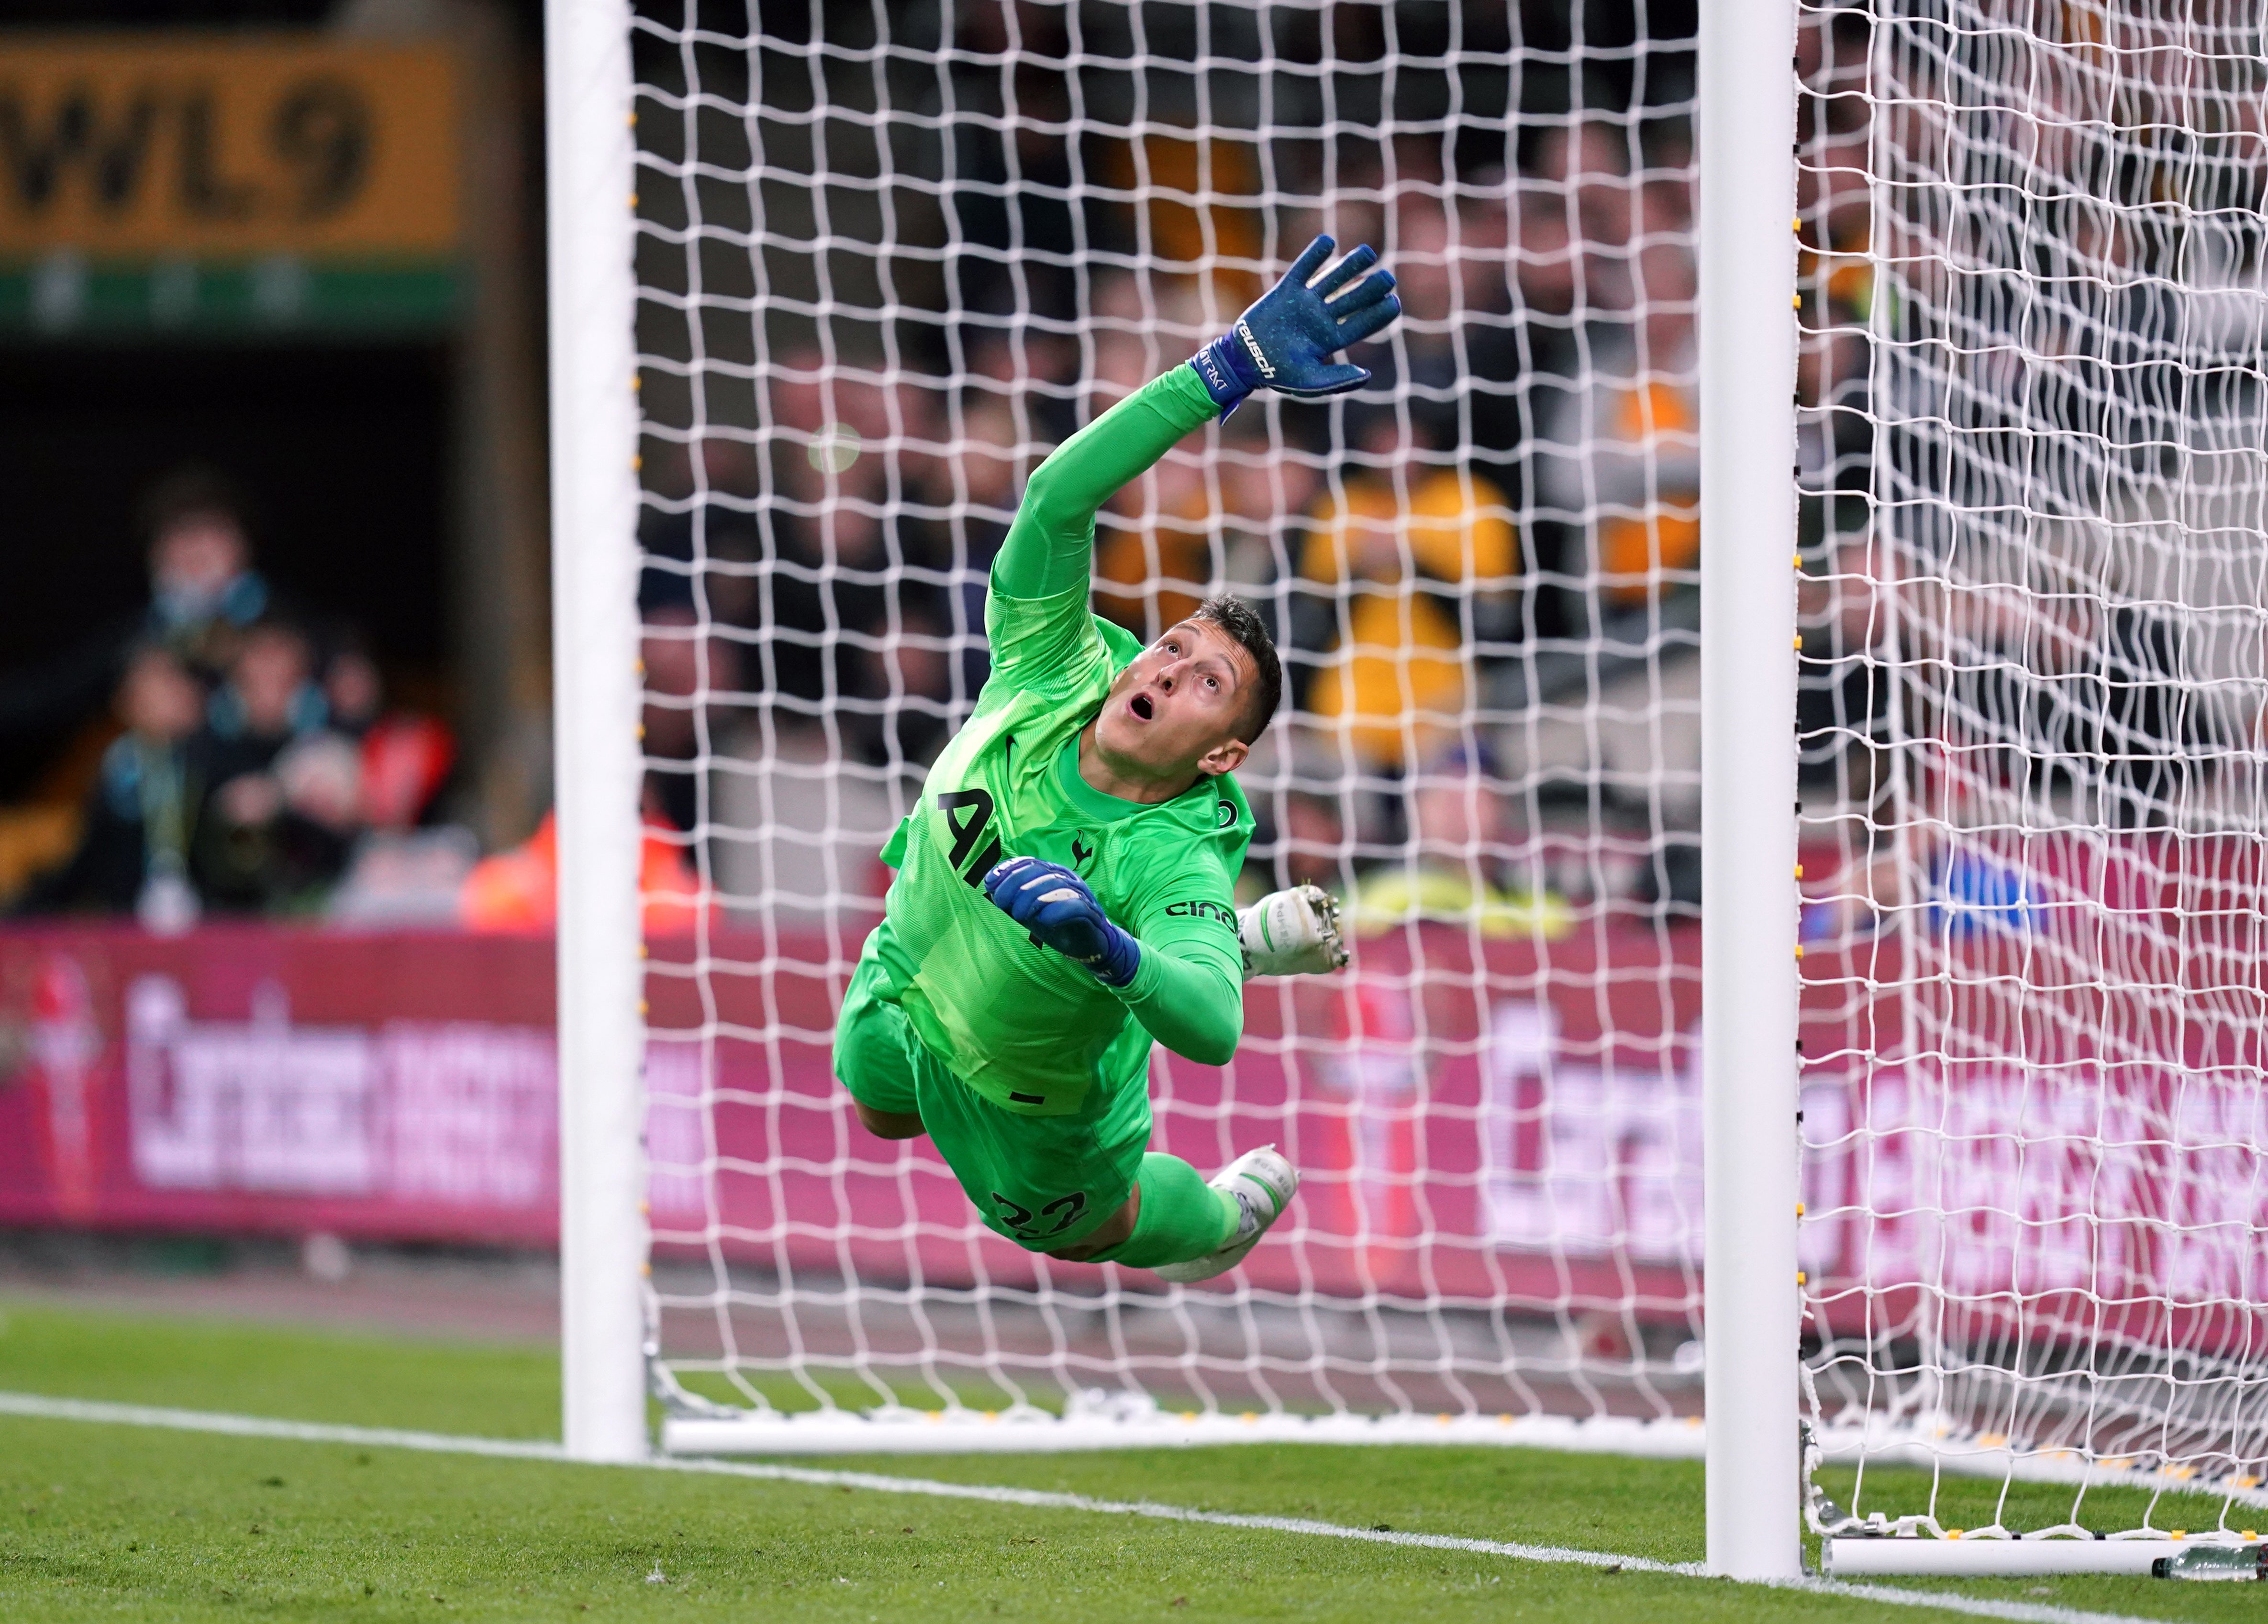
<path fill-rule="evenodd" d="M 1105 760 L 1152 780 L 1216 776 L 1245 760 L 1252 655 L 1202 619 L 1168 626 L 1111 683 L 1095 717 Z"/>

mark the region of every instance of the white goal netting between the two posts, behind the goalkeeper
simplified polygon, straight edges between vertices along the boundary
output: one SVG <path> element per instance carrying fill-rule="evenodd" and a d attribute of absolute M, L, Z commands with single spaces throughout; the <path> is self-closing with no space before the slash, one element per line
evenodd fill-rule
<path fill-rule="evenodd" d="M 667 1443 L 1699 1449 L 1694 57 L 1517 11 L 637 9 Z M 1402 281 L 1374 383 L 1254 399 L 1095 547 L 1136 633 L 1270 617 L 1241 900 L 1354 934 L 1234 1064 L 1154 1057 L 1159 1148 L 1304 1175 L 1179 1288 L 993 1236 L 830 1032 L 1025 474 L 1315 231 Z"/>

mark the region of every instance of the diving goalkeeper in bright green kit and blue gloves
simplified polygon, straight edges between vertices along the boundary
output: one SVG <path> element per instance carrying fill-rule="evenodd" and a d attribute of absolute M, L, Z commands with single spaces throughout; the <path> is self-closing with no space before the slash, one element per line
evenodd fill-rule
<path fill-rule="evenodd" d="M 1148 649 L 1089 612 L 1095 513 L 1259 388 L 1322 397 L 1402 306 L 1377 254 L 1315 238 L 1234 329 L 1070 435 L 991 567 L 991 680 L 921 803 L 835 1027 L 835 1075 L 882 1139 L 928 1134 L 984 1223 L 1066 1261 L 1209 1279 L 1300 1184 L 1275 1145 L 1207 1182 L 1150 1152 L 1150 1043 L 1218 1066 L 1243 975 L 1345 964 L 1315 887 L 1243 916 L 1252 810 L 1234 769 L 1284 678 L 1259 617 L 1216 597 Z M 1243 973 L 1243 975 L 1241 975 Z"/>

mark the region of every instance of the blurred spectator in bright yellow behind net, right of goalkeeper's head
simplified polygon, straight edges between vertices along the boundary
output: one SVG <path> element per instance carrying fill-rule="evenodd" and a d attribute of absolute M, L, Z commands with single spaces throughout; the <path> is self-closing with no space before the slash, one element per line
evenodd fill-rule
<path fill-rule="evenodd" d="M 1395 454 L 1390 424 L 1365 451 Z M 1397 467 L 1352 474 L 1300 547 L 1293 644 L 1325 655 L 1306 710 L 1336 721 L 1368 767 L 1427 755 L 1472 701 L 1465 617 L 1501 633 L 1517 567 L 1504 492 L 1422 438 Z"/>

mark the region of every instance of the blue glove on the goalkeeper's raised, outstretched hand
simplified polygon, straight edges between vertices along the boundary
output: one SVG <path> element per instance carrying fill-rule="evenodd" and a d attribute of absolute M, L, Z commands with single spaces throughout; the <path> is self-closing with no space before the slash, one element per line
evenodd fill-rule
<path fill-rule="evenodd" d="M 1284 272 L 1284 281 L 1238 315 L 1236 327 L 1191 358 L 1188 365 L 1198 370 L 1204 392 L 1220 406 L 1222 417 L 1261 388 L 1320 399 L 1359 390 L 1370 381 L 1363 367 L 1345 361 L 1331 365 L 1331 356 L 1374 338 L 1402 315 L 1395 277 L 1390 270 L 1363 277 L 1379 263 L 1377 249 L 1363 243 L 1331 265 L 1331 274 L 1309 286 L 1327 259 L 1331 238 L 1318 236 Z"/>

